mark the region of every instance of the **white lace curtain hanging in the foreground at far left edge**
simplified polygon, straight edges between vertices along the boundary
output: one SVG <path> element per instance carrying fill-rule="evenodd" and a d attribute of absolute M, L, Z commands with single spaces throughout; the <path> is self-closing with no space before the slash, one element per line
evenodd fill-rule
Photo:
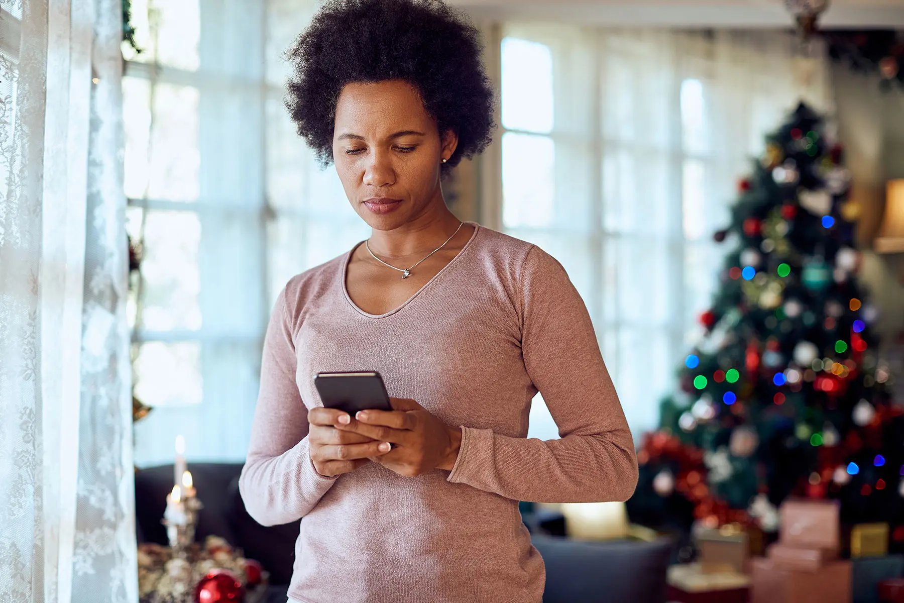
<path fill-rule="evenodd" d="M 115 0 L 0 0 L 0 601 L 137 601 Z"/>

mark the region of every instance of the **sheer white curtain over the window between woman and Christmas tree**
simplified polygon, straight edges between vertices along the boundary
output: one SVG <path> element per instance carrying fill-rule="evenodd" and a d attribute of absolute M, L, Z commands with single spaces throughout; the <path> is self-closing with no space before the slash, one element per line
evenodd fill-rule
<path fill-rule="evenodd" d="M 639 436 L 702 334 L 727 250 L 712 233 L 763 136 L 799 99 L 833 110 L 824 52 L 784 32 L 516 23 L 494 43 L 502 190 L 489 214 L 568 270 Z M 535 401 L 531 437 L 557 437 Z"/>

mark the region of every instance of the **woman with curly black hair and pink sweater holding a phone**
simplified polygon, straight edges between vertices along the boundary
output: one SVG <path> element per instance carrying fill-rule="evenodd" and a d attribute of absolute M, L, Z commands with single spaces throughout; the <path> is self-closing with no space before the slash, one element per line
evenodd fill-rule
<path fill-rule="evenodd" d="M 540 601 L 518 501 L 623 501 L 637 462 L 560 263 L 443 200 L 492 127 L 476 30 L 437 0 L 332 2 L 290 58 L 298 132 L 372 236 L 268 326 L 240 491 L 259 523 L 304 518 L 289 601 Z M 373 370 L 394 410 L 323 408 L 316 372 Z M 537 391 L 560 439 L 525 438 Z"/>

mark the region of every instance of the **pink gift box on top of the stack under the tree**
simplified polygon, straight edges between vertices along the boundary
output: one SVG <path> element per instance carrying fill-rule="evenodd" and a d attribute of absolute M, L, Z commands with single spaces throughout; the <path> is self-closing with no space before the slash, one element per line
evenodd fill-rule
<path fill-rule="evenodd" d="M 783 544 L 837 551 L 839 504 L 834 500 L 786 500 L 779 509 Z"/>

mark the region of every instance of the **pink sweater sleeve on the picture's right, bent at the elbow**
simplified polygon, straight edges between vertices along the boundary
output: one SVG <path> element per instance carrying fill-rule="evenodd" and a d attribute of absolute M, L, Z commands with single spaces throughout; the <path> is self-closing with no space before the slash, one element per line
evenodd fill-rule
<path fill-rule="evenodd" d="M 565 269 L 533 246 L 521 269 L 524 366 L 560 439 L 462 427 L 448 481 L 536 503 L 625 501 L 637 485 L 634 441 L 587 306 Z"/>

